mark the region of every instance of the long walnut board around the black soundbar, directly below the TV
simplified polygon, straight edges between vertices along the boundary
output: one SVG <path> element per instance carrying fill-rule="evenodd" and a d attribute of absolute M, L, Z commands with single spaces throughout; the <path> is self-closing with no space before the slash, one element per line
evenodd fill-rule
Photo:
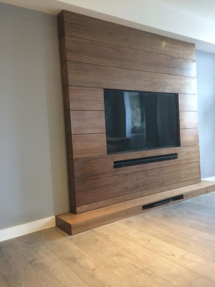
<path fill-rule="evenodd" d="M 104 135 L 105 136 L 105 135 Z M 104 139 L 105 141 L 105 139 Z M 155 155 L 177 153 L 178 159 L 168 161 L 158 161 L 148 164 L 138 164 L 136 166 L 126 166 L 124 168 L 113 167 L 114 161 L 125 159 L 137 159 L 142 157 L 151 157 Z M 71 170 L 72 177 L 75 182 L 86 181 L 96 178 L 104 178 L 108 176 L 115 176 L 124 173 L 137 172 L 147 169 L 155 169 L 159 167 L 172 166 L 177 164 L 184 164 L 188 162 L 199 161 L 199 146 L 186 147 L 171 147 L 166 149 L 151 149 L 139 152 L 126 152 L 119 154 L 108 154 L 103 157 L 85 157 L 77 158 L 72 161 L 68 159 L 68 175 L 70 181 L 70 162 L 73 166 L 74 172 Z"/>

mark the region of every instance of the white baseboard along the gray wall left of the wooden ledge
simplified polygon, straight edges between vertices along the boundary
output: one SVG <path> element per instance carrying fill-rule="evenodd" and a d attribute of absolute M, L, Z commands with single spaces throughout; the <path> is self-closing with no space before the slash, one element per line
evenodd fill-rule
<path fill-rule="evenodd" d="M 8 240 L 21 235 L 46 229 L 55 225 L 55 216 L 51 216 L 25 224 L 5 228 L 0 230 L 0 241 Z"/>

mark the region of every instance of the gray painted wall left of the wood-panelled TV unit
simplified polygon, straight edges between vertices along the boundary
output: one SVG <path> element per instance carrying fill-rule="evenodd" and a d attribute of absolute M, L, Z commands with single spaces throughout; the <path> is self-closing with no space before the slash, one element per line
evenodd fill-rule
<path fill-rule="evenodd" d="M 56 16 L 0 3 L 0 229 L 68 211 Z"/>

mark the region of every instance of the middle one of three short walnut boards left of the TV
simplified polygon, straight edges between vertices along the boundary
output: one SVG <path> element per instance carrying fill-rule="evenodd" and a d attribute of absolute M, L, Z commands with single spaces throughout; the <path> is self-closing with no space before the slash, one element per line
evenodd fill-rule
<path fill-rule="evenodd" d="M 105 133 L 104 111 L 70 111 L 72 134 Z"/>

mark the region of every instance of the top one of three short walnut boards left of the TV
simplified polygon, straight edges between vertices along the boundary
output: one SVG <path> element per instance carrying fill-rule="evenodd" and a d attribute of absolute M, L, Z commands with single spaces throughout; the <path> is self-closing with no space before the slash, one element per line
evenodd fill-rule
<path fill-rule="evenodd" d="M 64 89 L 65 110 L 104 111 L 103 89 L 73 86 Z"/>

